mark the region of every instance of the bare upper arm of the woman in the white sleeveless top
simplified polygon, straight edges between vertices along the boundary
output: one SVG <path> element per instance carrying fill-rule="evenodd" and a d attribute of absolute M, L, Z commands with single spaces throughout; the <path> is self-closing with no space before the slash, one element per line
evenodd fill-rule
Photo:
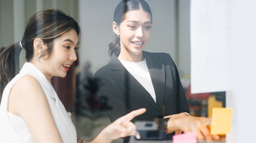
<path fill-rule="evenodd" d="M 24 76 L 13 86 L 8 111 L 22 117 L 35 142 L 63 142 L 46 95 L 34 77 Z"/>

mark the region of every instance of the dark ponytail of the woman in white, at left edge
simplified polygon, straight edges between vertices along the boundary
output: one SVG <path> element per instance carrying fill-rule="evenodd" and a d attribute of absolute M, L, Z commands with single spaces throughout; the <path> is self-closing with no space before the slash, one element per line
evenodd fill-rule
<path fill-rule="evenodd" d="M 19 55 L 22 47 L 19 42 L 7 46 L 0 54 L 0 94 L 8 82 L 19 73 Z"/>

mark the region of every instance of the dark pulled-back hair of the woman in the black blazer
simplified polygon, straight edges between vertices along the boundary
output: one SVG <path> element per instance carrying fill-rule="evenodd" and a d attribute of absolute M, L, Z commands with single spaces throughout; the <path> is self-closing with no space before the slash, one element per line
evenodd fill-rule
<path fill-rule="evenodd" d="M 152 13 L 149 5 L 144 0 L 122 0 L 116 6 L 114 11 L 114 21 L 119 26 L 124 20 L 125 13 L 133 10 L 140 10 L 140 8 L 151 15 L 152 21 Z M 112 56 L 114 52 L 120 52 L 120 39 L 116 36 L 115 41 L 109 43 L 109 55 Z"/>

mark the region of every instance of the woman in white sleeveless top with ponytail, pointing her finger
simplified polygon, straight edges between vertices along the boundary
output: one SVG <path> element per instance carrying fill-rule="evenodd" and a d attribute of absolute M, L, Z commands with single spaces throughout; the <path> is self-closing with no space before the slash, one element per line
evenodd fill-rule
<path fill-rule="evenodd" d="M 80 27 L 72 17 L 44 10 L 31 17 L 20 42 L 2 51 L 0 142 L 83 142 L 77 139 L 71 118 L 50 83 L 53 76 L 65 77 L 77 60 L 79 35 Z M 18 73 L 22 49 L 27 62 Z M 140 138 L 130 120 L 144 111 L 119 118 L 91 142 L 111 142 L 128 135 Z"/>

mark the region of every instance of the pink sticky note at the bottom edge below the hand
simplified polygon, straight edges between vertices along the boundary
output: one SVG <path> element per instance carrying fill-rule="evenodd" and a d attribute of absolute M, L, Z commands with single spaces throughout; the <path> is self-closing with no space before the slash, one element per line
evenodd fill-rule
<path fill-rule="evenodd" d="M 195 135 L 194 132 L 174 135 L 173 143 L 197 143 L 197 136 Z"/>

